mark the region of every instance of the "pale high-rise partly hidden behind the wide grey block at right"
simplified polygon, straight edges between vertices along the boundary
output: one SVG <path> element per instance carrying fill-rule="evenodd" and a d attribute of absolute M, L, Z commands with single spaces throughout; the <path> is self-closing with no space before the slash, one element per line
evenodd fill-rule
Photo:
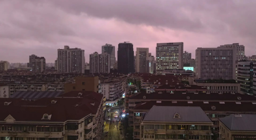
<path fill-rule="evenodd" d="M 239 43 L 220 45 L 218 48 L 235 48 L 235 60 L 236 63 L 240 60 L 245 60 L 244 46 Z"/>

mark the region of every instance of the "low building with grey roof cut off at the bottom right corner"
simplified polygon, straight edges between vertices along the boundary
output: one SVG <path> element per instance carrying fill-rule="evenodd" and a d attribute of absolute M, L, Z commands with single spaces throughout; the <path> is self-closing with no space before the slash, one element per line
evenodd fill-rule
<path fill-rule="evenodd" d="M 256 114 L 233 114 L 219 119 L 220 140 L 255 140 Z"/>

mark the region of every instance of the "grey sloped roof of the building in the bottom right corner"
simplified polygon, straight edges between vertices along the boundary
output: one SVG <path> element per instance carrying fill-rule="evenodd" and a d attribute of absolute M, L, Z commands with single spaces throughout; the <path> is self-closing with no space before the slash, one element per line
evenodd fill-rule
<path fill-rule="evenodd" d="M 233 114 L 219 120 L 231 131 L 256 131 L 256 114 Z"/>

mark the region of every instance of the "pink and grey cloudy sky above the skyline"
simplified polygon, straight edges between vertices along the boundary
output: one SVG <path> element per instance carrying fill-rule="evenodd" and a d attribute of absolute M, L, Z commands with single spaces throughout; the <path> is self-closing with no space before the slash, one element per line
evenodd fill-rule
<path fill-rule="evenodd" d="M 130 41 L 155 56 L 156 43 L 198 47 L 240 43 L 256 55 L 256 0 L 0 0 L 0 60 L 54 63 L 69 45 L 89 54 Z M 117 54 L 116 54 L 117 56 Z"/>

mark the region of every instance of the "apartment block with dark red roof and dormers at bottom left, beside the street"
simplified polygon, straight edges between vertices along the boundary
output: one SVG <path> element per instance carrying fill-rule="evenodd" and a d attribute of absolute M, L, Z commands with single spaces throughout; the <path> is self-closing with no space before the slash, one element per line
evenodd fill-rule
<path fill-rule="evenodd" d="M 0 98 L 1 140 L 99 140 L 104 97 L 86 91 L 61 97 Z"/>

